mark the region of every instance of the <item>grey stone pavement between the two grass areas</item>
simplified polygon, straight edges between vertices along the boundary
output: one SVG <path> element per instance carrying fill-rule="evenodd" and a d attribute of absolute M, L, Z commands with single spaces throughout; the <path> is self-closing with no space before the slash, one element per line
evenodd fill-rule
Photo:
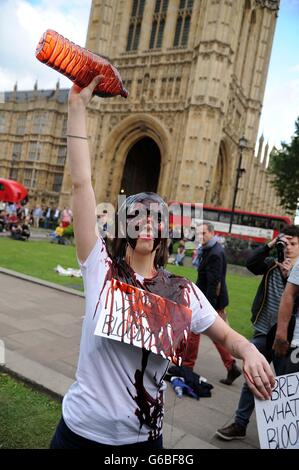
<path fill-rule="evenodd" d="M 83 294 L 0 269 L 0 339 L 6 368 L 62 396 L 73 382 L 79 351 Z M 226 375 L 218 352 L 201 337 L 195 371 L 214 385 L 211 398 L 176 397 L 170 385 L 165 400 L 164 445 L 174 449 L 259 448 L 255 416 L 246 439 L 225 442 L 215 430 L 229 424 L 239 400 L 242 377 L 222 385 Z"/>

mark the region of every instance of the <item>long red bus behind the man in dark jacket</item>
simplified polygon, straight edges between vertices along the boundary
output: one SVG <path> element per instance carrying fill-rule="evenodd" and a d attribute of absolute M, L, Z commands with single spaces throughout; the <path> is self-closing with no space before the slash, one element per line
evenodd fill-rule
<path fill-rule="evenodd" d="M 236 209 L 229 233 L 231 209 L 178 201 L 169 201 L 168 206 L 169 227 L 173 229 L 176 226 L 181 226 L 187 234 L 190 227 L 194 227 L 204 220 L 214 225 L 217 235 L 265 243 L 267 240 L 277 237 L 286 225 L 293 223 L 287 216 Z M 200 219 L 198 218 L 199 213 L 201 214 Z"/>

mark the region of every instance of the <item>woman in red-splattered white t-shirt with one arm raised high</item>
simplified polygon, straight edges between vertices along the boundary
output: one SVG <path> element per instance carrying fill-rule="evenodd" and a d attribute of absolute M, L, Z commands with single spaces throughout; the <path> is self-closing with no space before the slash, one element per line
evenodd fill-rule
<path fill-rule="evenodd" d="M 217 315 L 197 286 L 163 269 L 168 213 L 157 194 L 123 202 L 107 252 L 96 233 L 85 122 L 100 80 L 83 89 L 73 85 L 69 93 L 68 161 L 86 308 L 76 381 L 63 399 L 51 448 L 159 449 L 163 378 L 170 360 L 180 364 L 190 330 L 205 332 L 242 359 L 258 398 L 270 398 L 274 377 L 255 346 Z"/>

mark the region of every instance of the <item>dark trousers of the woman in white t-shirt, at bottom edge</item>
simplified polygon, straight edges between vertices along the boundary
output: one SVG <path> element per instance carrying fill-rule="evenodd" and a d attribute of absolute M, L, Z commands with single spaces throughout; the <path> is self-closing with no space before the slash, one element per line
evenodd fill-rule
<path fill-rule="evenodd" d="M 136 442 L 134 444 L 125 444 L 113 446 L 91 441 L 85 437 L 79 436 L 70 430 L 63 417 L 59 421 L 55 434 L 52 438 L 50 449 L 163 449 L 162 435 L 153 441 Z"/>

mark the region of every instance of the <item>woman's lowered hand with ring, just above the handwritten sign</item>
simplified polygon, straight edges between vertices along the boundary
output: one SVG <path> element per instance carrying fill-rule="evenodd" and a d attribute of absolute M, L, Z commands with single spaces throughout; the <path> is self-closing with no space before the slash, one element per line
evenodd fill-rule
<path fill-rule="evenodd" d="M 261 400 L 270 399 L 275 378 L 265 357 L 250 344 L 243 354 L 243 372 L 251 392 Z"/>

